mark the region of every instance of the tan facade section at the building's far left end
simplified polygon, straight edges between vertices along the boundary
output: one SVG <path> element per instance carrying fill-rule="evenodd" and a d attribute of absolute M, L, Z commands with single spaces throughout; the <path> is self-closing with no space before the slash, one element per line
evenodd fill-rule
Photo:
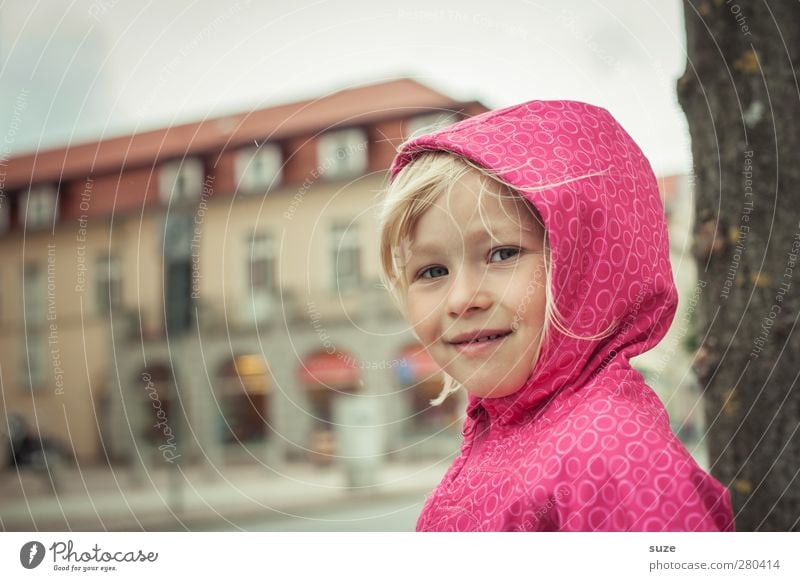
<path fill-rule="evenodd" d="M 108 252 L 108 234 L 107 225 L 76 222 L 53 236 L 33 230 L 0 238 L 3 417 L 24 415 L 79 456 L 96 451 L 98 396 L 112 359 L 108 319 L 98 313 L 88 274 Z"/>

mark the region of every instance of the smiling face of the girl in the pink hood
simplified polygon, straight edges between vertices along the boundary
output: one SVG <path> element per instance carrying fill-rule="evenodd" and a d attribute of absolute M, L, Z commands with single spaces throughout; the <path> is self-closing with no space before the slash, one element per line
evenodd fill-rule
<path fill-rule="evenodd" d="M 525 384 L 541 340 L 544 230 L 516 196 L 485 193 L 482 220 L 479 179 L 468 174 L 417 222 L 406 246 L 408 316 L 446 373 L 476 396 L 502 397 Z M 504 336 L 463 342 L 473 334 Z"/>

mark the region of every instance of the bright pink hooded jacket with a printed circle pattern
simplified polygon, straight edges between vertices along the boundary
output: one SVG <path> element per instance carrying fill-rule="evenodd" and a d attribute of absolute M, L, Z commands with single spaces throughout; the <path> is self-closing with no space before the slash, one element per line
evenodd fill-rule
<path fill-rule="evenodd" d="M 516 393 L 469 394 L 461 454 L 418 531 L 732 531 L 730 493 L 673 435 L 629 359 L 677 306 L 664 209 L 649 162 L 605 109 L 530 101 L 405 143 L 447 150 L 519 188 L 548 232 L 553 296 L 577 340 L 552 329 Z"/>

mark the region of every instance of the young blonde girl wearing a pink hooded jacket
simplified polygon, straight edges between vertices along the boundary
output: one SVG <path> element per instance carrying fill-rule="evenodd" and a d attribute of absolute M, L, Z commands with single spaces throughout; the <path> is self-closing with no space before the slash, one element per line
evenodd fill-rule
<path fill-rule="evenodd" d="M 418 531 L 732 531 L 730 494 L 629 359 L 677 305 L 653 171 L 605 110 L 530 101 L 404 143 L 381 263 L 464 388 Z"/>

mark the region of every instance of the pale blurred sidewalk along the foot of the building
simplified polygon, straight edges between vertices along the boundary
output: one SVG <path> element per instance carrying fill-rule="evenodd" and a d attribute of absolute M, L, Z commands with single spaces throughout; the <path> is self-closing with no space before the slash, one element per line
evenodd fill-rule
<path fill-rule="evenodd" d="M 393 496 L 424 499 L 449 462 L 385 464 L 378 485 L 351 488 L 341 468 L 287 464 L 164 466 L 136 480 L 130 468 L 66 468 L 57 495 L 24 470 L 0 473 L 2 531 L 203 530 L 234 519 L 286 517 Z M 231 530 L 237 530 L 230 522 Z"/>

